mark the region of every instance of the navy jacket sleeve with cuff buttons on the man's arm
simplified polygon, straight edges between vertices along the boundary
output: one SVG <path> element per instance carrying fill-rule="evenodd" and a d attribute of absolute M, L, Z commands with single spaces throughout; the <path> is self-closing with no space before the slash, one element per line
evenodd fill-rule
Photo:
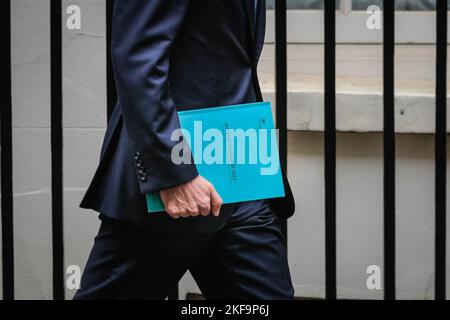
<path fill-rule="evenodd" d="M 116 0 L 112 62 L 142 194 L 193 180 L 194 164 L 171 160 L 180 127 L 169 92 L 169 54 L 190 0 Z"/>

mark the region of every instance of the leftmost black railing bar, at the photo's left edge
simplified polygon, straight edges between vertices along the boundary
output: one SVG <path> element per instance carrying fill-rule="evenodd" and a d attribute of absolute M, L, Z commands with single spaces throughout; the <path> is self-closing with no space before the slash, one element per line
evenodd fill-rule
<path fill-rule="evenodd" d="M 11 98 L 11 1 L 0 4 L 0 26 L 4 47 L 1 50 L 1 203 L 3 299 L 14 299 L 14 227 L 12 177 L 12 98 Z"/>

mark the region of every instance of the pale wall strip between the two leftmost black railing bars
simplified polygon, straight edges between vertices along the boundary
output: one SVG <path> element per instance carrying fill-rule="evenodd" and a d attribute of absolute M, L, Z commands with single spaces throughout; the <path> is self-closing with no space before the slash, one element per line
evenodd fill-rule
<path fill-rule="evenodd" d="M 18 299 L 52 296 L 48 12 L 48 1 L 13 1 L 14 247 Z"/>

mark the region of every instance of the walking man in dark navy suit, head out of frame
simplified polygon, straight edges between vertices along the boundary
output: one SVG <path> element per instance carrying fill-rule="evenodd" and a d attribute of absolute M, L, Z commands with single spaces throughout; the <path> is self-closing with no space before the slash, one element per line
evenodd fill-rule
<path fill-rule="evenodd" d="M 116 0 L 118 103 L 81 207 L 102 224 L 75 299 L 164 299 L 189 270 L 208 299 L 291 299 L 286 197 L 223 205 L 175 165 L 177 111 L 262 101 L 264 0 Z M 145 194 L 166 211 L 148 214 Z"/>

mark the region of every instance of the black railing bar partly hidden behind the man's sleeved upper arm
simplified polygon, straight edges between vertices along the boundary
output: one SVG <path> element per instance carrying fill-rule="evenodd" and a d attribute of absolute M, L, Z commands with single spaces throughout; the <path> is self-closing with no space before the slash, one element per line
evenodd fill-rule
<path fill-rule="evenodd" d="M 106 0 L 106 87 L 107 118 L 111 117 L 117 101 L 116 83 L 111 61 L 111 30 L 114 12 L 114 0 Z"/>

